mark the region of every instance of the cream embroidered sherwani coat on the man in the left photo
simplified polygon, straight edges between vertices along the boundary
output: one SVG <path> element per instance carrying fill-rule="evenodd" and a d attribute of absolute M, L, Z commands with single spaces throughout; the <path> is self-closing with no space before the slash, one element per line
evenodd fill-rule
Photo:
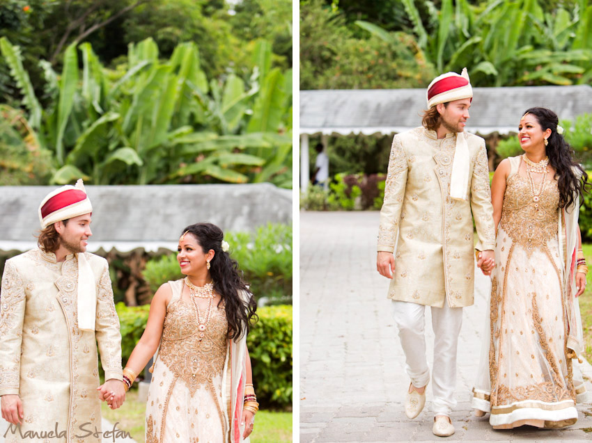
<path fill-rule="evenodd" d="M 105 379 L 122 380 L 121 335 L 107 261 L 84 252 L 97 291 L 95 331 L 79 330 L 77 255 L 56 263 L 33 249 L 6 261 L 0 294 L 0 395 L 18 394 L 21 432 L 55 430 L 50 442 L 100 442 L 97 345 Z M 56 425 L 57 423 L 57 425 Z M 29 434 L 31 435 L 31 434 Z M 18 431 L 6 442 L 20 439 Z"/>

